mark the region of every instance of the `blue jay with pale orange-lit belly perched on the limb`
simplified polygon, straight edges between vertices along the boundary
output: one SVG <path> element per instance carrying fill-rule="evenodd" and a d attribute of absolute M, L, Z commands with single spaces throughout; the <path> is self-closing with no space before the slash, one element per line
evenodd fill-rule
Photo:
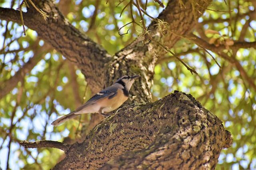
<path fill-rule="evenodd" d="M 75 111 L 53 121 L 52 125 L 60 125 L 80 114 L 99 113 L 106 116 L 104 113 L 117 109 L 128 99 L 132 84 L 139 77 L 140 75 L 120 77 L 114 84 L 92 96 Z"/>

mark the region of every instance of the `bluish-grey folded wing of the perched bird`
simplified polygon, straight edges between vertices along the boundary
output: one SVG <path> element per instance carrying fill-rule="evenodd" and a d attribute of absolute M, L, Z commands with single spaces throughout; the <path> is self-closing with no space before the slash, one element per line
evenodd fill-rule
<path fill-rule="evenodd" d="M 87 106 L 96 103 L 98 100 L 103 99 L 103 98 L 113 98 L 114 96 L 116 96 L 117 94 L 117 90 L 118 88 L 114 87 L 114 86 L 109 86 L 107 88 L 105 88 L 104 90 L 98 92 L 97 94 L 95 94 L 94 96 L 92 96 L 92 98 L 90 98 L 85 104 L 83 104 L 82 106 L 78 107 L 76 109 L 76 112 L 86 108 Z"/>

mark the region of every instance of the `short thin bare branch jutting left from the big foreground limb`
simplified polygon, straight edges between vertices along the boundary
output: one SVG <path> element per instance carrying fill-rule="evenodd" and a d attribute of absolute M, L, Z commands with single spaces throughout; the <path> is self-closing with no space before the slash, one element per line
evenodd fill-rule
<path fill-rule="evenodd" d="M 36 141 L 36 142 L 21 141 L 20 145 L 22 145 L 25 148 L 57 148 L 64 151 L 70 149 L 71 147 L 71 145 L 67 143 L 62 143 L 58 141 Z"/>

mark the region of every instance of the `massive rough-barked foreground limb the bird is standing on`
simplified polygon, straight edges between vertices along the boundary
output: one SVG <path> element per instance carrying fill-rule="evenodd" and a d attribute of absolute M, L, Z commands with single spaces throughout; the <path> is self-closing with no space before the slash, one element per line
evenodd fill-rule
<path fill-rule="evenodd" d="M 122 107 L 72 145 L 54 169 L 213 169 L 231 143 L 218 117 L 175 91 L 153 103 Z"/>

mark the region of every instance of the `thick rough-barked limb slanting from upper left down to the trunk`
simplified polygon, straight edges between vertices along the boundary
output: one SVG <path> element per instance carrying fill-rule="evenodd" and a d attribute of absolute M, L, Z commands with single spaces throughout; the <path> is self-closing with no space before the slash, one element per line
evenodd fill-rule
<path fill-rule="evenodd" d="M 48 12 L 50 17 L 44 21 L 38 12 L 30 8 L 27 13 L 23 13 L 25 25 L 34 29 L 64 57 L 76 63 L 94 93 L 101 90 L 105 84 L 102 79 L 105 75 L 104 65 L 110 61 L 111 56 L 68 23 L 51 0 L 40 1 L 37 5 Z M 20 23 L 19 12 L 13 9 L 0 8 L 0 19 Z"/>

